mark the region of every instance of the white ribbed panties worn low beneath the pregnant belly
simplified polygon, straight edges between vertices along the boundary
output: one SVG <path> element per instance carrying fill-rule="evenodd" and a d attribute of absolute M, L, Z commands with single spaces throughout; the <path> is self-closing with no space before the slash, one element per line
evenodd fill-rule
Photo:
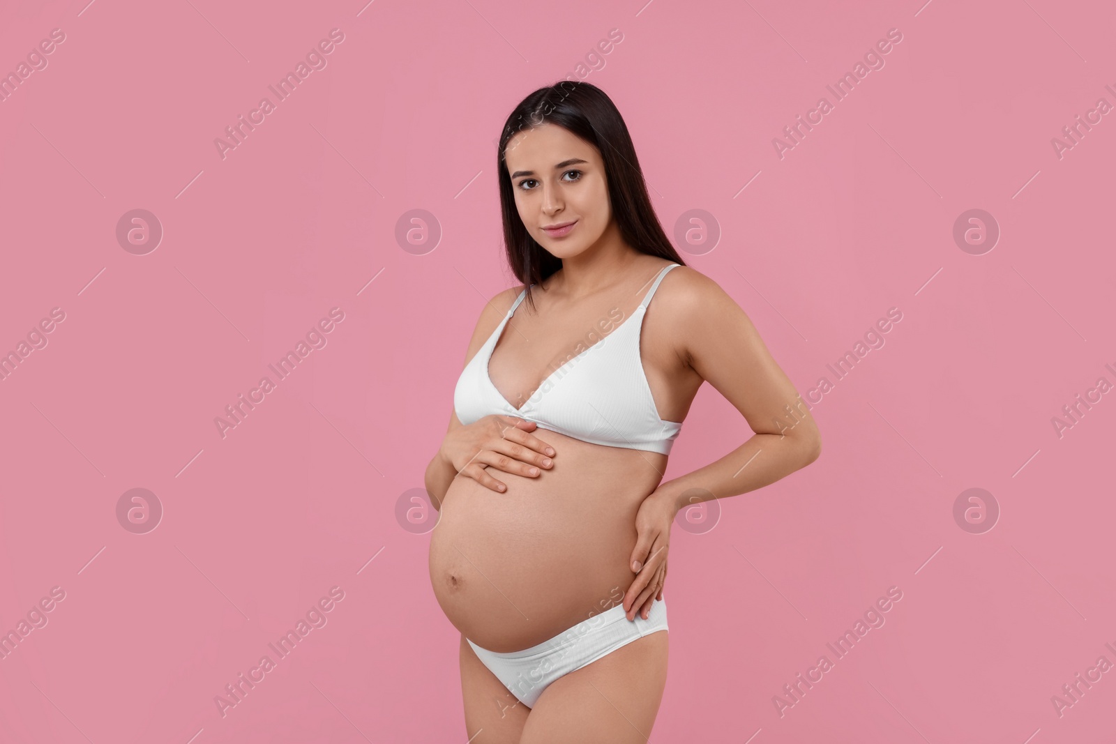
<path fill-rule="evenodd" d="M 581 620 L 549 640 L 521 651 L 499 654 L 469 640 L 477 657 L 527 707 L 562 675 L 580 669 L 606 654 L 658 630 L 666 630 L 666 602 L 656 599 L 647 619 L 628 620 L 624 605 Z"/>

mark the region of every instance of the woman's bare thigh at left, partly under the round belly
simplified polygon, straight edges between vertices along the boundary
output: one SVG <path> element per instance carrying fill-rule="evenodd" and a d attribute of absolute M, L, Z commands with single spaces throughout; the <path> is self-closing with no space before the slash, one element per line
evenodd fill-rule
<path fill-rule="evenodd" d="M 477 658 L 461 636 L 461 697 L 470 744 L 519 744 L 531 708 L 516 698 Z"/>

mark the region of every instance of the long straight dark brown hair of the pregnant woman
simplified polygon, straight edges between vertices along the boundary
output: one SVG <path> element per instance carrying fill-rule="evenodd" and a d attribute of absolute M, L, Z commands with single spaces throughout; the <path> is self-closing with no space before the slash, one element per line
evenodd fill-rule
<path fill-rule="evenodd" d="M 613 216 L 628 245 L 685 265 L 651 205 L 632 135 L 616 105 L 595 85 L 562 80 L 539 88 L 516 106 L 504 123 L 497 152 L 504 250 L 516 278 L 527 286 L 526 299 L 531 307 L 531 284 L 541 283 L 561 269 L 561 259 L 539 245 L 519 219 L 504 149 L 516 134 L 542 124 L 556 124 L 600 151 Z"/>

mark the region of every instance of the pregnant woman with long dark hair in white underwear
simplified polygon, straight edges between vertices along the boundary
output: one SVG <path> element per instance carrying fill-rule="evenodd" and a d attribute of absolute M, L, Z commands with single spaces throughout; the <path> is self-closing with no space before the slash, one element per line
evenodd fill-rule
<path fill-rule="evenodd" d="M 666 239 L 599 88 L 523 99 L 498 177 L 522 286 L 484 305 L 426 468 L 465 738 L 646 742 L 666 684 L 675 514 L 808 465 L 820 438 L 743 310 Z M 664 483 L 703 381 L 756 434 Z"/>

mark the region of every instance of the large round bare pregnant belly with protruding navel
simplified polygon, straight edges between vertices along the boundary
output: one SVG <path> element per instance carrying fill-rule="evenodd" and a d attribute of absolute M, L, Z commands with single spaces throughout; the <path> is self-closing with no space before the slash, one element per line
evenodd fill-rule
<path fill-rule="evenodd" d="M 635 514 L 666 455 L 533 432 L 557 453 L 525 477 L 489 467 L 503 493 L 453 480 L 431 532 L 430 578 L 458 630 L 482 648 L 530 648 L 623 602 L 635 579 Z"/>

